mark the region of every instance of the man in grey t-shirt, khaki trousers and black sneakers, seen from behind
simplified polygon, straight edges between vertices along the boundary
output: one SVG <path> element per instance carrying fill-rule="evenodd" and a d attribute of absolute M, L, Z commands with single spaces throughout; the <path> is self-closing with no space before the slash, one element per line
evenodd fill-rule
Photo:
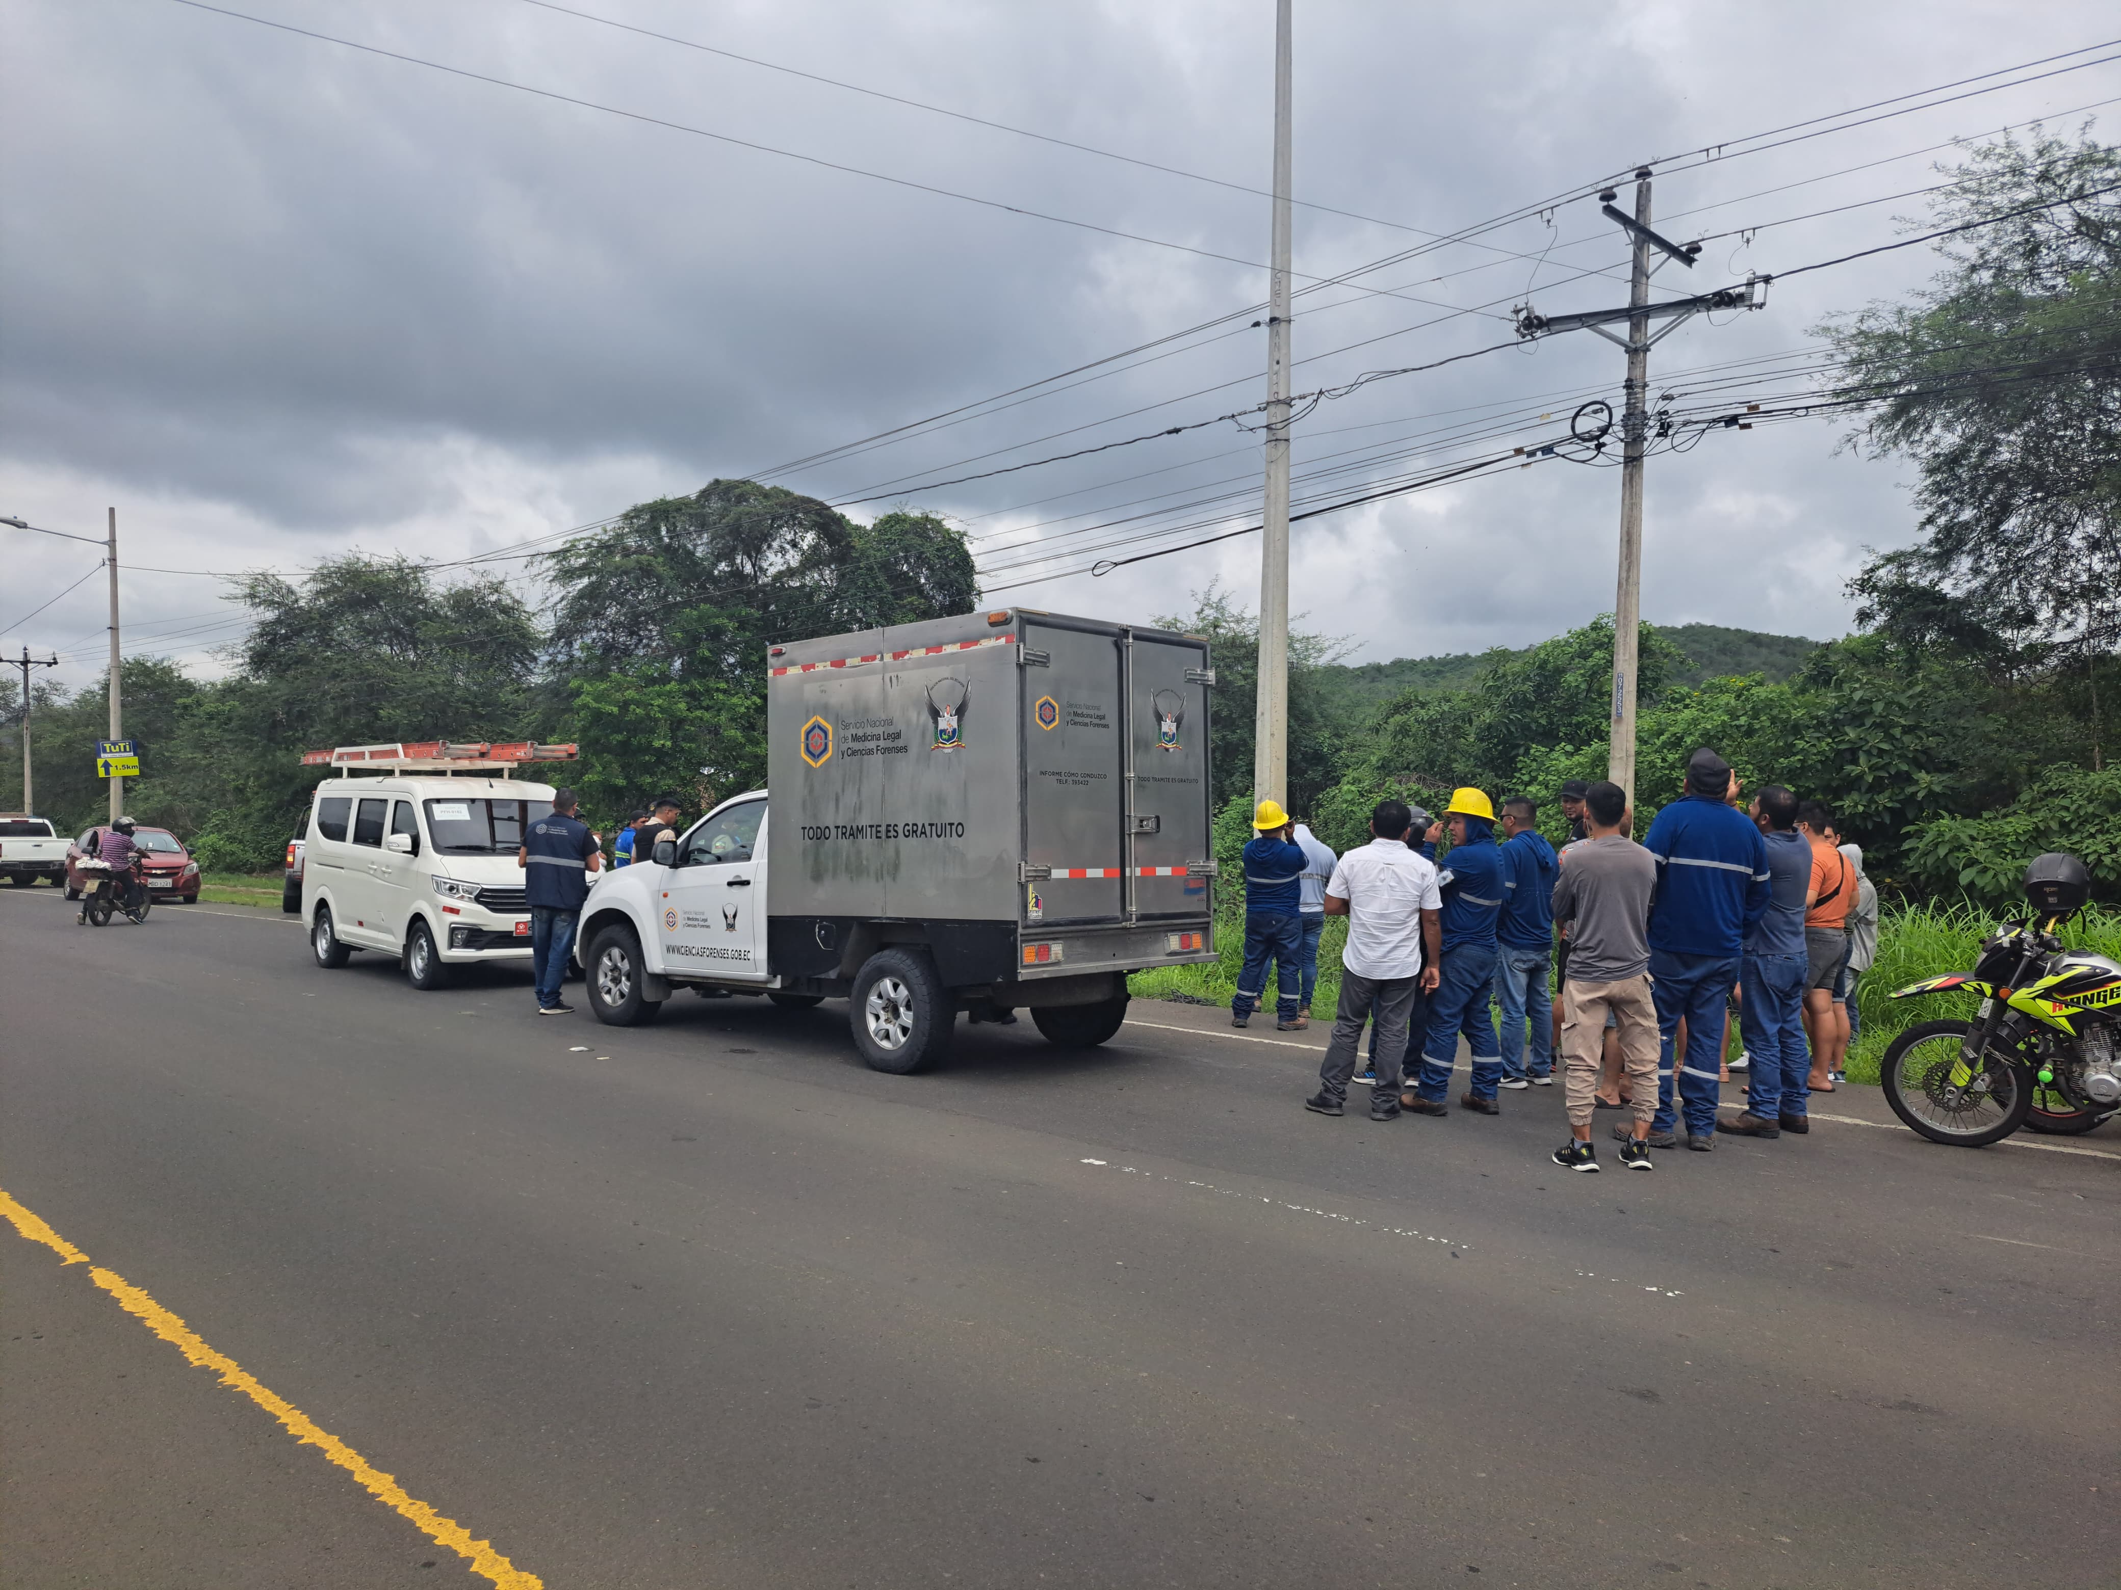
<path fill-rule="evenodd" d="M 1627 793 L 1597 782 L 1584 791 L 1591 837 L 1561 854 L 1555 884 L 1555 920 L 1567 924 L 1570 967 L 1561 984 L 1561 1056 L 1567 1066 L 1570 1141 L 1555 1149 L 1555 1164 L 1597 1170 L 1591 1147 L 1591 1111 L 1597 1107 L 1597 1071 L 1612 1011 L 1620 1060 L 1629 1077 L 1631 1128 L 1614 1128 L 1625 1147 L 1620 1164 L 1650 1170 L 1650 1117 L 1657 1115 L 1657 1003 L 1650 999 L 1650 899 L 1657 861 L 1627 837 Z M 1671 1147 L 1667 1134 L 1661 1147 Z"/>

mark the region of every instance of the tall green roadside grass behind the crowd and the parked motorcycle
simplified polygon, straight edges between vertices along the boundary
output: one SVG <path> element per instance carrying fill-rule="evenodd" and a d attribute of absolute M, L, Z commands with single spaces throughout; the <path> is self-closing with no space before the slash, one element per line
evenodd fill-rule
<path fill-rule="evenodd" d="M 1850 1081 L 1875 1088 L 1877 1062 L 1886 1054 L 1886 1045 L 1915 1022 L 1973 1011 L 1970 999 L 1956 999 L 1951 994 L 1894 999 L 1892 990 L 1947 971 L 1973 971 L 1981 954 L 1981 939 L 1994 926 L 1994 916 L 1964 905 L 1909 905 L 1881 914 L 1877 962 L 1856 984 L 1856 1011 L 1862 1018 L 1862 1035 L 1850 1045 Z M 2072 950 L 2096 950 L 2121 960 L 2121 914 L 2087 912 L 2070 922 L 2062 941 Z M 1328 916 L 1326 937 L 1319 941 L 1319 990 L 1311 1001 L 1315 1013 L 1324 1011 L 1330 1015 L 1340 1001 L 1343 943 L 1347 943 L 1347 918 Z M 1215 924 L 1215 950 L 1217 958 L 1198 967 L 1137 971 L 1128 977 L 1128 988 L 1135 999 L 1179 996 L 1228 1005 L 1237 992 L 1237 973 L 1245 965 L 1243 918 L 1224 918 Z"/>

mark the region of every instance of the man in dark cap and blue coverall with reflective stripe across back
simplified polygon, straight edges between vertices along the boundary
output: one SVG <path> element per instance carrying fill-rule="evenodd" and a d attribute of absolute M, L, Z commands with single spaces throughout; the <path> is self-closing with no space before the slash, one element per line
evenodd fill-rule
<path fill-rule="evenodd" d="M 1686 761 L 1686 795 L 1657 814 L 1642 848 L 1657 859 L 1657 901 L 1650 905 L 1650 977 L 1663 1054 L 1657 1062 L 1657 1119 L 1650 1147 L 1676 1147 L 1671 1102 L 1673 1041 L 1686 1020 L 1680 1058 L 1680 1100 L 1686 1147 L 1716 1147 L 1716 1054 L 1724 1001 L 1739 979 L 1746 935 L 1767 914 L 1771 884 L 1767 844 L 1750 816 L 1729 803 L 1731 763 L 1714 750 Z"/>

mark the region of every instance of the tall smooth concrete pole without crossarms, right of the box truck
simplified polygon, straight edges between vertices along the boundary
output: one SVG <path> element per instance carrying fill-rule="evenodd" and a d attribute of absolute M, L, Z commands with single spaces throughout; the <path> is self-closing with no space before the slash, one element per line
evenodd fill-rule
<path fill-rule="evenodd" d="M 1290 0 L 1275 4 L 1275 240 L 1266 310 L 1266 511 L 1251 799 L 1290 793 Z"/>

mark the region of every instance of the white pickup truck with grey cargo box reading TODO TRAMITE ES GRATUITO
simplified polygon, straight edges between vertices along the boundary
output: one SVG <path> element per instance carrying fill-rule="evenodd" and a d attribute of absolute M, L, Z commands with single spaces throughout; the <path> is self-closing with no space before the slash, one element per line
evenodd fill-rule
<path fill-rule="evenodd" d="M 861 1058 L 908 1073 L 961 1011 L 1103 1043 L 1128 971 L 1215 958 L 1198 636 L 1016 608 L 766 666 L 772 793 L 592 880 L 575 954 L 598 1020 L 683 986 L 838 996 Z"/>

